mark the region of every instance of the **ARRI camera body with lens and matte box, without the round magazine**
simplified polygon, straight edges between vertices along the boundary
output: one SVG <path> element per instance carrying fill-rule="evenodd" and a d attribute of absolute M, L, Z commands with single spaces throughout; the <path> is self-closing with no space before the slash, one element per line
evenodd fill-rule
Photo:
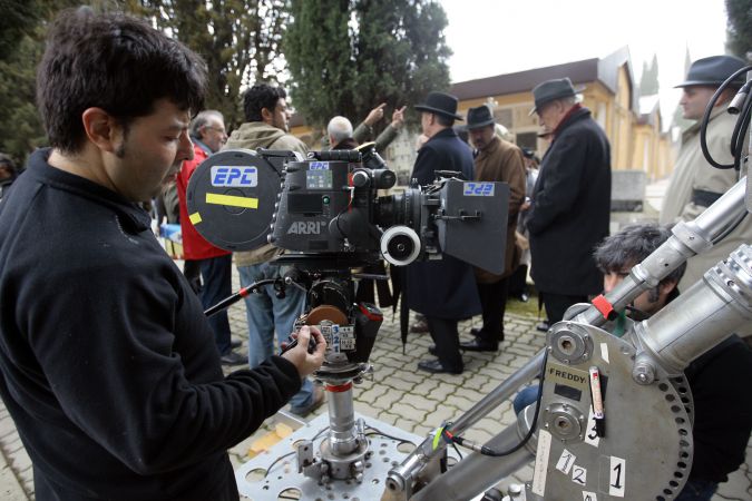
<path fill-rule="evenodd" d="M 508 187 L 442 173 L 433 184 L 379 196 L 397 176 L 372 149 L 313 153 L 289 161 L 268 242 L 304 254 L 393 265 L 448 253 L 494 273 L 504 269 Z M 477 245 L 473 245 L 476 243 Z"/>

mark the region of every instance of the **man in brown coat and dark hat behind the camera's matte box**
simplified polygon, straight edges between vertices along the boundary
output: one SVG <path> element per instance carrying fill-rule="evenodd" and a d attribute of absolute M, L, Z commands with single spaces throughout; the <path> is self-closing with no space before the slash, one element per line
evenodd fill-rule
<path fill-rule="evenodd" d="M 472 328 L 472 341 L 460 343 L 462 350 L 494 352 L 504 341 L 504 313 L 507 304 L 509 275 L 519 264 L 516 252 L 515 229 L 517 216 L 525 200 L 525 163 L 523 151 L 495 134 L 496 122 L 488 106 L 468 110 L 467 129 L 475 151 L 475 179 L 500 181 L 509 185 L 509 213 L 507 220 L 499 220 L 507 228 L 505 266 L 501 275 L 475 268 L 478 295 L 482 307 L 484 325 Z"/>

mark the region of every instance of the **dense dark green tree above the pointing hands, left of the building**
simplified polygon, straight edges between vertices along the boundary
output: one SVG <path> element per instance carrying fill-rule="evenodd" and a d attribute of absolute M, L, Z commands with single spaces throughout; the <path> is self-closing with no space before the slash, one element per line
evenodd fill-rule
<path fill-rule="evenodd" d="M 447 16 L 430 0 L 292 0 L 284 39 L 294 104 L 320 127 L 361 120 L 379 102 L 449 88 Z"/>

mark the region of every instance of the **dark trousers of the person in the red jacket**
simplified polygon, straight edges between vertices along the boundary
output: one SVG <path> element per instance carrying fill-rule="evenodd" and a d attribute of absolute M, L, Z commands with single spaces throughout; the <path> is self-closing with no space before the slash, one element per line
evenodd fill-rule
<path fill-rule="evenodd" d="M 209 257 L 208 259 L 198 259 L 201 275 L 204 285 L 198 293 L 204 310 L 214 306 L 233 293 L 232 271 L 233 255 Z M 214 338 L 221 355 L 229 353 L 229 320 L 227 311 L 223 310 L 215 313 L 209 318 L 209 325 L 214 331 Z"/>

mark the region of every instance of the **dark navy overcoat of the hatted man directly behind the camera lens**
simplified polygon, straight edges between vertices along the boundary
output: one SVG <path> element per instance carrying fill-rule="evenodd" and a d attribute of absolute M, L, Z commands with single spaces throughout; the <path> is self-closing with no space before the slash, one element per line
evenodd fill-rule
<path fill-rule="evenodd" d="M 458 170 L 472 179 L 472 154 L 452 129 L 431 137 L 418 151 L 412 178 L 433 181 L 436 170 Z M 410 310 L 439 318 L 467 318 L 480 313 L 472 267 L 451 256 L 441 261 L 413 263 L 407 269 L 406 291 Z"/>

